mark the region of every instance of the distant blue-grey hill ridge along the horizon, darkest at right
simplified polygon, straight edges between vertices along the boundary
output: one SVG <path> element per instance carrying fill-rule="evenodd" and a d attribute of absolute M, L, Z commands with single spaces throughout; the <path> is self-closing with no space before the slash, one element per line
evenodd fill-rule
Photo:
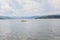
<path fill-rule="evenodd" d="M 44 16 L 28 16 L 28 17 L 0 16 L 0 19 L 51 19 L 51 18 L 60 18 L 60 15 L 44 15 Z"/>

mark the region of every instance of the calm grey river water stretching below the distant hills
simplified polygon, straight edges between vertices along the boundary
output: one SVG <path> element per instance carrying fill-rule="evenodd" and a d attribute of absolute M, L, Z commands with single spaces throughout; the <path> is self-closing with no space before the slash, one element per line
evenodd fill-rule
<path fill-rule="evenodd" d="M 60 19 L 0 20 L 0 40 L 60 40 Z"/>

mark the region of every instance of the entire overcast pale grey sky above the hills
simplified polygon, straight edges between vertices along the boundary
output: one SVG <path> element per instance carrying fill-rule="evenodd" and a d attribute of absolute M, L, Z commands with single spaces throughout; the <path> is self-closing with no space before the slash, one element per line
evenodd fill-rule
<path fill-rule="evenodd" d="M 0 0 L 0 16 L 60 14 L 60 0 Z"/>

